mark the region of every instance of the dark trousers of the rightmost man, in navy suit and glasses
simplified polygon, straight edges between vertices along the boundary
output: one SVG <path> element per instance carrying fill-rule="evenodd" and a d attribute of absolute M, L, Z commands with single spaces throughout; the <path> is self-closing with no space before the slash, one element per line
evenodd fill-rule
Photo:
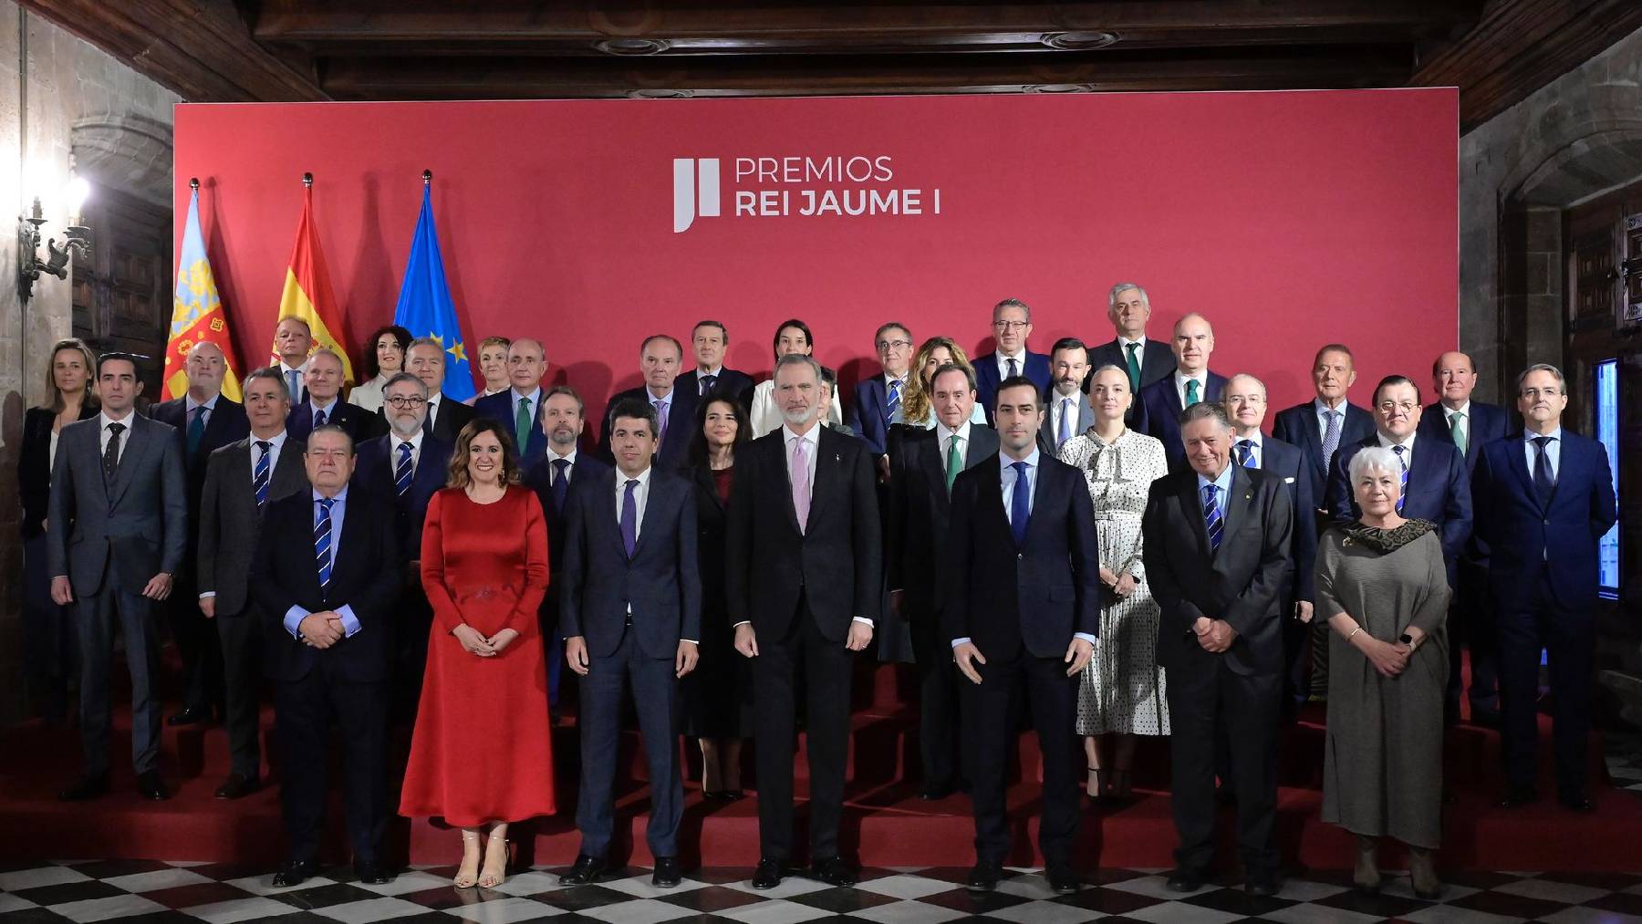
<path fill-rule="evenodd" d="M 1540 568 L 1529 599 L 1496 601 L 1499 624 L 1501 757 L 1512 789 L 1534 788 L 1539 745 L 1540 650 L 1550 655 L 1552 742 L 1557 753 L 1557 791 L 1585 798 L 1586 750 L 1591 735 L 1591 670 L 1596 660 L 1596 614 L 1571 609 L 1552 592 L 1552 574 Z"/>

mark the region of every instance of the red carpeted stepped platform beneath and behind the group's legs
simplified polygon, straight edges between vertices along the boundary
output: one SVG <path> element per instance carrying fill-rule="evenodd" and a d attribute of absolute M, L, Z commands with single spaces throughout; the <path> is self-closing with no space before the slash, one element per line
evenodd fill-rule
<path fill-rule="evenodd" d="M 870 676 L 869 676 L 870 675 Z M 857 714 L 851 743 L 851 784 L 844 817 L 846 850 L 880 867 L 967 865 L 974 860 L 969 801 L 954 796 L 941 803 L 918 799 L 911 780 L 916 768 L 918 729 L 915 714 L 903 706 L 910 698 L 910 668 L 877 666 L 857 683 Z M 1323 824 L 1320 768 L 1322 711 L 1310 707 L 1287 729 L 1281 743 L 1282 784 L 1277 837 L 1287 862 L 1310 868 L 1346 868 L 1353 847 L 1348 834 Z M 1548 755 L 1548 729 L 1543 747 Z M 273 711 L 263 714 L 268 770 L 277 783 L 277 745 Z M 617 793 L 617 852 L 631 852 L 634 863 L 650 860 L 644 844 L 647 791 L 637 735 L 624 737 Z M 575 776 L 576 729 L 573 719 L 555 729 L 560 814 L 534 822 L 534 835 L 522 840 L 522 860 L 570 863 L 576 855 Z M 404 740 L 399 742 L 404 747 Z M 798 794 L 805 796 L 803 737 L 798 742 Z M 695 747 L 683 745 L 691 776 L 699 773 Z M 158 858 L 222 860 L 274 865 L 284 844 L 279 824 L 277 784 L 225 803 L 212 798 L 228 766 L 227 739 L 217 727 L 166 729 L 163 771 L 174 788 L 166 803 L 136 798 L 131 771 L 122 766 L 130 753 L 130 714 L 115 720 L 113 791 L 82 804 L 57 803 L 54 793 L 79 771 L 79 745 L 72 730 L 26 724 L 0 732 L 0 858 Z M 750 748 L 749 748 L 750 771 Z M 1548 762 L 1542 762 L 1547 763 Z M 1593 786 L 1598 812 L 1580 816 L 1543 801 L 1517 811 L 1493 807 L 1498 796 L 1498 737 L 1484 729 L 1461 725 L 1448 734 L 1447 770 L 1453 804 L 1445 809 L 1442 863 L 1450 868 L 1479 870 L 1642 870 L 1642 799 L 1603 781 L 1601 758 L 1593 742 Z M 1015 817 L 1015 865 L 1039 863 L 1036 855 L 1036 784 L 1039 757 L 1031 734 L 1020 739 L 1015 762 L 1016 783 L 1010 789 Z M 337 776 L 333 775 L 333 781 Z M 750 773 L 745 776 L 752 783 Z M 483 784 L 483 768 L 475 766 L 475 783 Z M 1169 819 L 1167 745 L 1143 742 L 1136 766 L 1138 799 L 1126 806 L 1089 806 L 1084 814 L 1079 862 L 1085 867 L 1169 867 L 1174 829 Z M 1552 793 L 1550 780 L 1542 791 Z M 683 844 L 686 860 L 703 857 L 714 867 L 750 867 L 759 853 L 757 801 L 732 804 L 704 803 L 699 784 L 686 784 Z M 343 858 L 340 804 L 332 806 L 328 852 Z M 1230 821 L 1225 809 L 1223 862 L 1233 857 Z M 800 844 L 803 809 L 800 809 Z M 401 862 L 453 863 L 460 855 L 453 830 L 429 821 L 399 819 L 389 832 L 389 853 Z"/>

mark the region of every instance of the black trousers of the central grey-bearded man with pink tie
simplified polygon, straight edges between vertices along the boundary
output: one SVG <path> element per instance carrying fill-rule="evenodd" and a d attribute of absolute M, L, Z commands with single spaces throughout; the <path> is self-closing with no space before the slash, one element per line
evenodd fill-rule
<path fill-rule="evenodd" d="M 759 770 L 759 853 L 788 860 L 793 845 L 793 747 L 803 686 L 810 752 L 810 860 L 837 857 L 849 755 L 849 688 L 854 658 L 821 635 L 803 596 L 782 638 L 759 637 L 752 660 L 754 739 Z"/>

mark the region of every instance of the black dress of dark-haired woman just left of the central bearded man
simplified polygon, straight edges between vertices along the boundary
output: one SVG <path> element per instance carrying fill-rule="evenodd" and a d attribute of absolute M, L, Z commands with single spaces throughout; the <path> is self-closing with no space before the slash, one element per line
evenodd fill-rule
<path fill-rule="evenodd" d="M 752 735 L 752 668 L 736 652 L 724 601 L 724 507 L 734 468 L 686 469 L 696 486 L 696 560 L 701 563 L 701 643 L 696 670 L 685 676 L 685 735 Z"/>

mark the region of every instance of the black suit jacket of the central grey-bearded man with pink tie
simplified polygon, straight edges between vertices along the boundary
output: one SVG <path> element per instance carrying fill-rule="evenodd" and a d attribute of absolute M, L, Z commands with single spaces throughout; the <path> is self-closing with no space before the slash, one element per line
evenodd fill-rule
<path fill-rule="evenodd" d="M 778 427 L 736 453 L 724 565 L 729 620 L 782 637 L 803 596 L 821 635 L 842 642 L 854 617 L 878 619 L 883 594 L 872 448 L 821 427 L 810 522 L 800 532 L 785 435 Z"/>

